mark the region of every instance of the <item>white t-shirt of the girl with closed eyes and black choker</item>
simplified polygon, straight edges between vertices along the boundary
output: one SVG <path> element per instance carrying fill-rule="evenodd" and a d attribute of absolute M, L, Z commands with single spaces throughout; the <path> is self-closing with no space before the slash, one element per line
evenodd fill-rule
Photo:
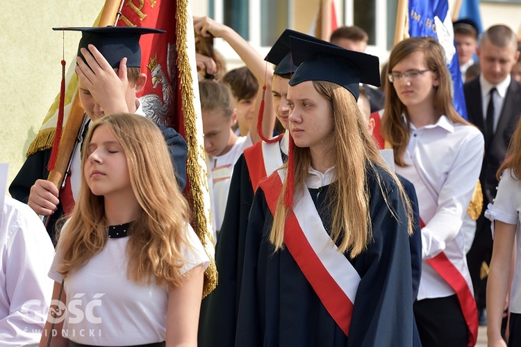
<path fill-rule="evenodd" d="M 67 225 L 64 230 L 67 232 Z M 185 266 L 209 264 L 208 256 L 191 226 L 186 228 L 191 248 L 182 250 Z M 165 341 L 168 287 L 139 285 L 126 278 L 126 242 L 129 237 L 108 239 L 105 248 L 65 280 L 67 313 L 64 336 L 78 344 L 131 346 Z M 57 254 L 49 277 L 61 282 Z"/>

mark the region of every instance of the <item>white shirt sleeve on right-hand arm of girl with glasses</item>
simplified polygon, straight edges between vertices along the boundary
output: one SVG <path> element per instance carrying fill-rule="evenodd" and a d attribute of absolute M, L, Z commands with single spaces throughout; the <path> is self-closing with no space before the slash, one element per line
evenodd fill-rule
<path fill-rule="evenodd" d="M 436 214 L 422 228 L 422 259 L 435 257 L 445 250 L 447 242 L 458 235 L 463 225 L 472 192 L 476 187 L 483 162 L 484 140 L 477 130 L 468 135 L 460 147 L 454 164 L 438 194 Z"/>

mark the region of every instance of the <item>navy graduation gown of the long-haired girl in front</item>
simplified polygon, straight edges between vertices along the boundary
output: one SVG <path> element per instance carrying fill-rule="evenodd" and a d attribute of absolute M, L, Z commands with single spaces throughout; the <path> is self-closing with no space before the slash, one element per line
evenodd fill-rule
<path fill-rule="evenodd" d="M 274 173 L 276 174 L 276 173 Z M 273 217 L 259 188 L 251 208 L 235 346 L 412 346 L 413 290 L 406 214 L 395 180 L 379 170 L 395 217 L 370 174 L 372 242 L 349 259 L 361 282 L 349 337 L 340 330 L 287 249 L 268 241 Z M 311 196 L 329 230 L 328 187 Z"/>

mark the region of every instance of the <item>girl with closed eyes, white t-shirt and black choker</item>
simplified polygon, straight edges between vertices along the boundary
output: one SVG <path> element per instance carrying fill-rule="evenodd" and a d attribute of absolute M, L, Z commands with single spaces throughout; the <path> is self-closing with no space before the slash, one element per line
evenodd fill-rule
<path fill-rule="evenodd" d="M 196 346 L 208 257 L 165 158 L 145 117 L 92 124 L 80 195 L 49 271 L 54 310 L 65 313 L 49 316 L 40 345 L 56 335 L 52 346 Z"/>

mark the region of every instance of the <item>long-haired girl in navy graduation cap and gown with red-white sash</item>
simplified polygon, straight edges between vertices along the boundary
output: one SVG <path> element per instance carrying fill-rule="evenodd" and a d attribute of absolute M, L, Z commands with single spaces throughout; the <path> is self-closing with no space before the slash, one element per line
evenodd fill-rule
<path fill-rule="evenodd" d="M 261 180 L 235 346 L 411 346 L 411 212 L 361 116 L 378 59 L 290 36 L 288 163 Z"/>

